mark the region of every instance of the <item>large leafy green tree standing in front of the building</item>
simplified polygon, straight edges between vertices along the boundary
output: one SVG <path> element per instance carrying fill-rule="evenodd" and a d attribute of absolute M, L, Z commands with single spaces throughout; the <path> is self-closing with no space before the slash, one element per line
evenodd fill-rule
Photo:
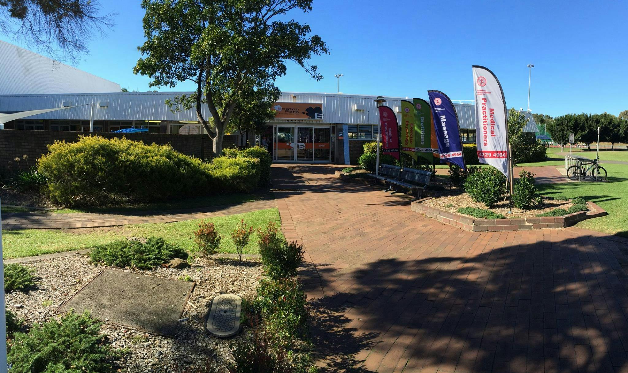
<path fill-rule="evenodd" d="M 193 81 L 191 95 L 168 101 L 173 110 L 195 108 L 197 117 L 222 152 L 222 139 L 236 108 L 249 97 L 264 97 L 268 108 L 279 97 L 274 81 L 286 62 L 322 79 L 313 55 L 327 54 L 320 36 L 307 24 L 288 19 L 290 11 L 311 11 L 311 0 L 143 0 L 146 42 L 134 73 L 147 75 L 151 87 Z M 205 118 L 202 105 L 211 117 Z M 257 105 L 256 105 L 257 107 Z"/>

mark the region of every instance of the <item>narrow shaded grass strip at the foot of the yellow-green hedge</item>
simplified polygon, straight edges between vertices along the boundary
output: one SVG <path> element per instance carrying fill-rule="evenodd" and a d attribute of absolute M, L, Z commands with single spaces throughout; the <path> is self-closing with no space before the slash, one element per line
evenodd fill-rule
<path fill-rule="evenodd" d="M 136 203 L 122 206 L 109 206 L 106 208 L 76 208 L 76 209 L 57 209 L 54 213 L 111 213 L 123 211 L 163 211 L 173 209 L 191 209 L 203 208 L 210 206 L 219 206 L 221 204 L 240 204 L 244 202 L 257 201 L 260 196 L 256 194 L 219 194 L 217 196 L 204 196 L 196 198 L 181 199 L 179 201 L 153 202 L 153 203 Z"/>

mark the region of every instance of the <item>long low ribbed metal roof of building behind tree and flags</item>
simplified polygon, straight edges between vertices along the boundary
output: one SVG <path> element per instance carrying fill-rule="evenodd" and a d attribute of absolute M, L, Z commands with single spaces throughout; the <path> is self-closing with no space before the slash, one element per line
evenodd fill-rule
<path fill-rule="evenodd" d="M 115 92 L 115 93 L 79 93 L 52 95 L 0 95 L 0 112 L 20 112 L 94 102 L 94 120 L 197 120 L 195 110 L 171 112 L 165 100 L 190 92 Z M 342 123 L 342 124 L 379 124 L 376 96 L 345 95 L 343 93 L 301 93 L 283 92 L 279 102 L 307 102 L 323 104 L 323 120 L 276 120 L 275 122 Z M 384 97 L 385 105 L 393 108 L 397 115 L 401 100 L 412 98 Z M 107 103 L 107 106 L 100 104 Z M 357 106 L 356 106 L 357 105 Z M 475 129 L 474 105 L 454 103 L 460 128 Z M 202 106 L 205 118 L 209 115 L 207 105 Z M 535 132 L 536 123 L 531 113 L 522 112 L 529 118 L 526 132 Z M 58 112 L 44 113 L 30 118 L 87 120 L 90 106 L 70 108 Z M 398 118 L 401 120 L 401 118 Z"/>

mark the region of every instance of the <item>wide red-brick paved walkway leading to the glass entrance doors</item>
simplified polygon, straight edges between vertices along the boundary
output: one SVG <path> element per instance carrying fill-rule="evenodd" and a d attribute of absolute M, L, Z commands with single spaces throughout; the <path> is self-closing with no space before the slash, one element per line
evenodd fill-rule
<path fill-rule="evenodd" d="M 480 233 L 274 165 L 325 372 L 628 372 L 628 244 L 578 228 Z"/>

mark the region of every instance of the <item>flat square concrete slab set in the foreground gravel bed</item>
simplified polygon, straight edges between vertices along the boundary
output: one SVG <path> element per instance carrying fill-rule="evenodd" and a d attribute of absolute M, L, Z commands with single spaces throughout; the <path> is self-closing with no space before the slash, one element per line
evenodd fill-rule
<path fill-rule="evenodd" d="M 90 310 L 99 320 L 174 337 L 195 283 L 105 270 L 59 308 Z"/>

